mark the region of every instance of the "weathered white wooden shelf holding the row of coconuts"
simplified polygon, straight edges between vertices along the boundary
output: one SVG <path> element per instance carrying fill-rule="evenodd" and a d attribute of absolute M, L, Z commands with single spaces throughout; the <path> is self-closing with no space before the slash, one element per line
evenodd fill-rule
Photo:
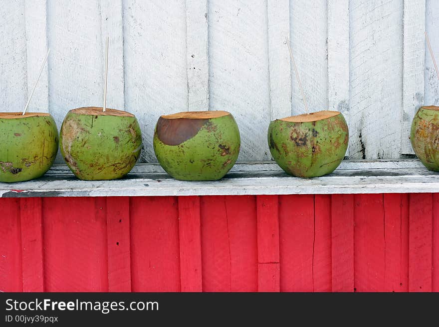
<path fill-rule="evenodd" d="M 439 172 L 417 159 L 344 160 L 332 174 L 311 179 L 289 176 L 274 162 L 238 163 L 223 179 L 202 182 L 175 180 L 158 164 L 138 164 L 113 181 L 81 181 L 54 165 L 39 179 L 0 183 L 4 198 L 432 192 L 439 192 Z"/>

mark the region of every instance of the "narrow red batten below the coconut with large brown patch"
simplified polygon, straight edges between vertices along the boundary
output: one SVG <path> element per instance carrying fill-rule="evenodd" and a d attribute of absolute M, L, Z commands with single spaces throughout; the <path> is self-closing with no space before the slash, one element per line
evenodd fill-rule
<path fill-rule="evenodd" d="M 179 197 L 178 202 L 182 292 L 201 292 L 200 197 Z"/>

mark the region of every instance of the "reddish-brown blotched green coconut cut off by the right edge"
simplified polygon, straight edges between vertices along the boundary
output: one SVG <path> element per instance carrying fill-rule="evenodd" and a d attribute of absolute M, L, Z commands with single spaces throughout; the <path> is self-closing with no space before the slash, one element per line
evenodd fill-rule
<path fill-rule="evenodd" d="M 439 171 L 439 107 L 421 107 L 415 114 L 410 141 L 419 160 L 428 169 Z"/>

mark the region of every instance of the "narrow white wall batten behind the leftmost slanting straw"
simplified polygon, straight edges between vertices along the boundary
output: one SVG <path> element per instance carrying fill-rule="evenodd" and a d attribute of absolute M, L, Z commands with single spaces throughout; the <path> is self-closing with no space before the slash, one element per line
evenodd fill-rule
<path fill-rule="evenodd" d="M 22 19 L 26 25 L 27 97 L 32 92 L 47 53 L 46 9 L 47 0 L 24 0 L 26 17 Z M 47 112 L 49 109 L 48 70 L 46 65 L 27 109 L 29 112 Z"/>

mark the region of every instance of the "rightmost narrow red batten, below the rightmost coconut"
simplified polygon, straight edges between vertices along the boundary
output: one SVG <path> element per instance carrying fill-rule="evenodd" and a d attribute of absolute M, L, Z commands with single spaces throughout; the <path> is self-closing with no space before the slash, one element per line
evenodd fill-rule
<path fill-rule="evenodd" d="M 410 194 L 409 291 L 432 291 L 433 195 Z"/>

